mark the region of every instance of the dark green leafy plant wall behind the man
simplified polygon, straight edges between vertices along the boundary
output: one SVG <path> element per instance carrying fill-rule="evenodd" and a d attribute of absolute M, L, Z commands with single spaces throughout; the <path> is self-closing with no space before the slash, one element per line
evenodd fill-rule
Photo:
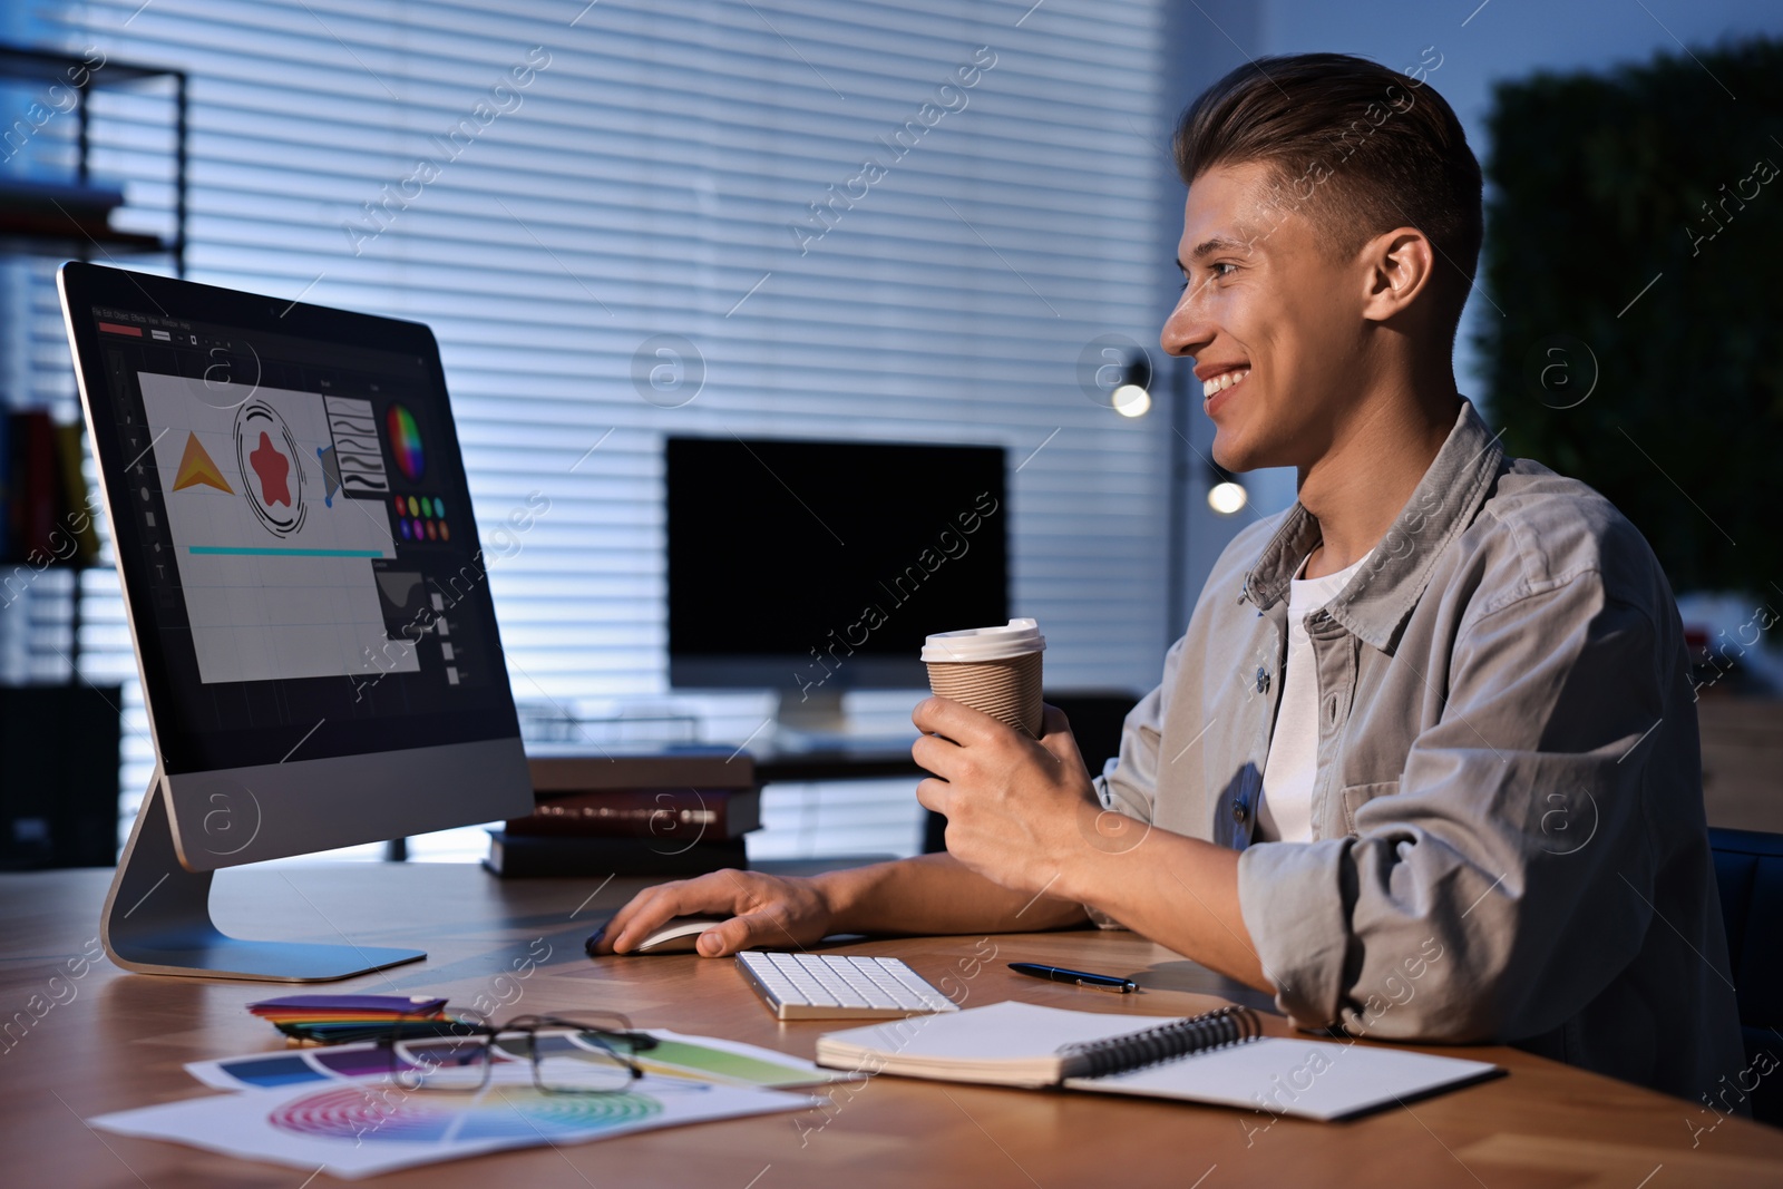
<path fill-rule="evenodd" d="M 1500 84 L 1475 337 L 1514 455 L 1674 590 L 1783 585 L 1783 43 Z M 1501 312 L 1501 316 L 1500 316 Z"/>

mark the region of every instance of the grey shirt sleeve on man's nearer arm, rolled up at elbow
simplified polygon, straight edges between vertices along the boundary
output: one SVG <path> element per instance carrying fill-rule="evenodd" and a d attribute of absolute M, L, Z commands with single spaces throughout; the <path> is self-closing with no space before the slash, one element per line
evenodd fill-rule
<path fill-rule="evenodd" d="M 1678 663 L 1658 636 L 1596 570 L 1464 622 L 1428 674 L 1435 722 L 1355 834 L 1239 856 L 1245 925 L 1298 1025 L 1533 1036 L 1628 966 L 1655 866 L 1635 749 Z"/>

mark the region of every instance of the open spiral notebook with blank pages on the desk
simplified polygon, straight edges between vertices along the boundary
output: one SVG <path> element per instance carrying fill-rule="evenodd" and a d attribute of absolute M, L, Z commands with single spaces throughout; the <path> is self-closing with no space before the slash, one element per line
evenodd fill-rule
<path fill-rule="evenodd" d="M 817 1064 L 945 1082 L 1146 1095 L 1344 1119 L 1503 1073 L 1485 1061 L 1262 1036 L 1246 1007 L 1187 1020 L 991 1004 L 817 1041 Z"/>

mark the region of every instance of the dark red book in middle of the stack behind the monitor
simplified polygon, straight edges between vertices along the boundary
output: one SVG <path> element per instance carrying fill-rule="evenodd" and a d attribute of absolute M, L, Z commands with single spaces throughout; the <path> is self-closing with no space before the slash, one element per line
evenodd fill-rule
<path fill-rule="evenodd" d="M 665 843 L 724 841 L 761 829 L 754 788 L 604 788 L 540 799 L 530 816 L 510 818 L 514 836 L 658 838 Z"/>

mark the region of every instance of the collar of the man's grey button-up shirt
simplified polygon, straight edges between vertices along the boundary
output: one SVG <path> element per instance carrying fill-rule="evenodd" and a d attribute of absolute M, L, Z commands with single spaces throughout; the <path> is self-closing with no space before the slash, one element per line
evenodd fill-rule
<path fill-rule="evenodd" d="M 1369 645 L 1393 651 L 1400 627 L 1430 583 L 1437 556 L 1473 524 L 1498 480 L 1505 462 L 1498 437 L 1462 398 L 1455 428 L 1393 528 L 1375 544 L 1373 556 L 1343 594 L 1325 606 L 1334 620 Z M 1259 611 L 1269 610 L 1287 595 L 1300 560 L 1318 544 L 1319 522 L 1294 501 L 1282 528 L 1245 576 L 1243 599 Z"/>

